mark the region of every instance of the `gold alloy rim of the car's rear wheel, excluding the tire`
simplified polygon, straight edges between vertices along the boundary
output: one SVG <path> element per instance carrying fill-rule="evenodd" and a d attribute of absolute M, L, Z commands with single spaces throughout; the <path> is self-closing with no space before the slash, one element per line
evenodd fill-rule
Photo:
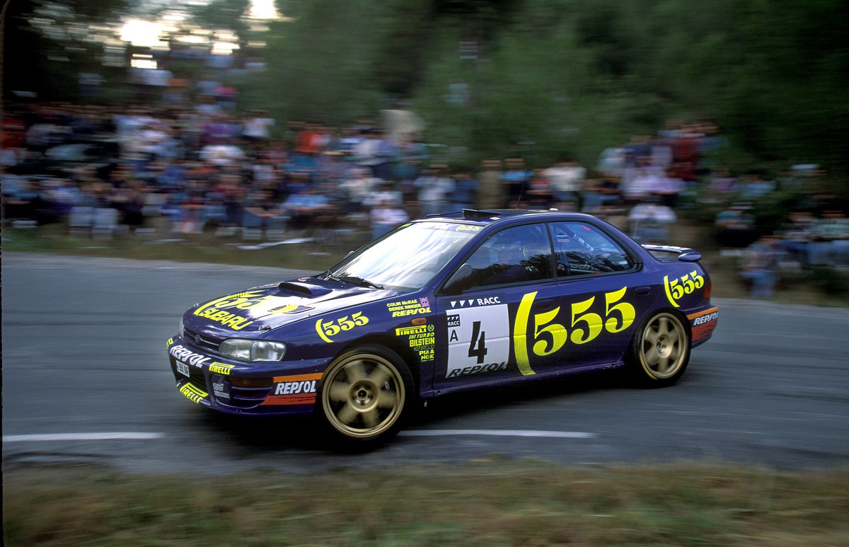
<path fill-rule="evenodd" d="M 658 313 L 646 324 L 639 359 L 649 377 L 672 378 L 686 363 L 688 351 L 687 331 L 672 313 Z"/>

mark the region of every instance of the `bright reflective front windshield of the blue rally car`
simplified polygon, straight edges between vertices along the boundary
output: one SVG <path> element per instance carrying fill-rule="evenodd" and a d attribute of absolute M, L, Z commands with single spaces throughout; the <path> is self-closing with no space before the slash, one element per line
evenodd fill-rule
<path fill-rule="evenodd" d="M 392 289 L 419 289 L 475 237 L 479 226 L 413 223 L 330 268 L 335 279 Z"/>

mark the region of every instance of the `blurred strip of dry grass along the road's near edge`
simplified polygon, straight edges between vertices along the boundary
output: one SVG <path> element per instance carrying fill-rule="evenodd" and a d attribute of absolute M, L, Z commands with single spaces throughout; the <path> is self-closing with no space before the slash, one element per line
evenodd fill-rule
<path fill-rule="evenodd" d="M 536 460 L 322 474 L 6 471 L 6 545 L 845 545 L 849 470 Z"/>

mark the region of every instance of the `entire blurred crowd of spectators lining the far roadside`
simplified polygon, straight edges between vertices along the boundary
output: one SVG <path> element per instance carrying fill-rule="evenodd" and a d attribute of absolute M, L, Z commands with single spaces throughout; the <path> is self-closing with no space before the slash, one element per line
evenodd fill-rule
<path fill-rule="evenodd" d="M 386 133 L 370 120 L 275 127 L 267 112 L 237 114 L 231 97 L 215 93 L 195 105 L 7 111 L 4 218 L 82 230 L 155 225 L 169 237 L 212 227 L 282 237 L 350 225 L 376 237 L 419 215 L 555 207 L 618 215 L 636 240 L 662 244 L 674 239 L 683 204 L 695 203 L 724 207 L 714 221 L 719 245 L 748 248 L 747 263 L 767 264 L 746 266 L 749 279 L 780 257 L 803 266 L 849 264 L 843 211 L 827 204 L 794 211 L 786 229 L 770 234 L 752 214 L 753 204 L 779 189 L 803 192 L 816 166 L 796 166 L 781 180 L 731 175 L 711 165 L 723 140 L 710 122 L 672 121 L 653 136 L 605 149 L 590 168 L 569 157 L 550 166 L 507 157 L 472 170 L 435 155 L 419 133 Z M 758 295 L 769 294 L 762 285 Z"/>

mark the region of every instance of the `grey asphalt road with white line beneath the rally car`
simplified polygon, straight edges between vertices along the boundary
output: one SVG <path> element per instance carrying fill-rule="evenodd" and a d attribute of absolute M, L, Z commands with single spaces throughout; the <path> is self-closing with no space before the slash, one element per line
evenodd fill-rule
<path fill-rule="evenodd" d="M 779 469 L 849 463 L 849 310 L 716 299 L 682 381 L 597 374 L 438 399 L 387 446 L 337 454 L 309 420 L 222 416 L 174 388 L 166 339 L 194 302 L 301 272 L 3 254 L 3 465 L 290 472 L 678 460 Z"/>

